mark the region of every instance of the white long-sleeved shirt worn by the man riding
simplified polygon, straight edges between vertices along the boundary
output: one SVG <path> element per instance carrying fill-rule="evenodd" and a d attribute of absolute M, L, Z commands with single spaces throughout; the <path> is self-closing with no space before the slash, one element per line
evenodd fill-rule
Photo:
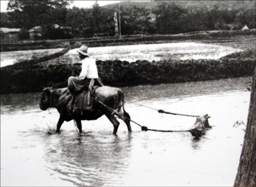
<path fill-rule="evenodd" d="M 98 70 L 96 66 L 96 62 L 93 58 L 87 57 L 82 60 L 82 70 L 79 75 L 79 79 L 97 79 L 98 76 Z"/>

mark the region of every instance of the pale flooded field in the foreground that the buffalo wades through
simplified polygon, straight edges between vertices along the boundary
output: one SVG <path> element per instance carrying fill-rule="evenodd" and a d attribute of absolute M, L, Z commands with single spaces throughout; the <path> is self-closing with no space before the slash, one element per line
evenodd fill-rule
<path fill-rule="evenodd" d="M 1 95 L 1 186 L 232 186 L 243 144 L 251 78 L 124 87 L 133 121 L 154 129 L 181 130 L 200 115 L 214 126 L 195 141 L 189 132 L 117 135 L 105 116 L 83 121 L 82 134 L 56 109 L 41 111 L 40 93 Z M 138 105 L 139 104 L 139 105 Z M 144 105 L 144 106 L 141 106 Z M 239 121 L 238 127 L 233 127 Z"/>

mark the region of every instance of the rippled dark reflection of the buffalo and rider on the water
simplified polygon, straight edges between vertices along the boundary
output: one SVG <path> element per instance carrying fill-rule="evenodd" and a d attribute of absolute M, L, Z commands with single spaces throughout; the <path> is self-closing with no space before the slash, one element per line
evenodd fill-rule
<path fill-rule="evenodd" d="M 118 178 L 125 173 L 131 154 L 130 135 L 120 138 L 110 134 L 61 133 L 58 138 L 45 152 L 48 162 L 57 163 L 49 169 L 61 174 L 63 180 L 74 185 L 102 186 L 115 178 L 119 184 Z"/>

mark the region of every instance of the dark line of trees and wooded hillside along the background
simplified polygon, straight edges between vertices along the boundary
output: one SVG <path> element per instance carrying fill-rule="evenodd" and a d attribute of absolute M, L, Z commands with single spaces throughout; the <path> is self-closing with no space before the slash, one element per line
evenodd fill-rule
<path fill-rule="evenodd" d="M 184 6 L 177 1 L 140 2 L 151 6 L 148 8 L 136 3 L 121 2 L 119 8 L 118 3 L 100 7 L 95 1 L 91 8 L 68 8 L 72 1 L 9 1 L 9 11 L 1 12 L 1 27 L 21 28 L 26 33 L 41 26 L 44 39 L 114 36 L 117 12 L 122 35 L 239 30 L 244 25 L 255 28 L 255 1 L 237 1 L 236 8 L 218 3 Z M 238 8 L 239 4 L 247 8 Z M 53 27 L 56 24 L 60 27 Z"/>

